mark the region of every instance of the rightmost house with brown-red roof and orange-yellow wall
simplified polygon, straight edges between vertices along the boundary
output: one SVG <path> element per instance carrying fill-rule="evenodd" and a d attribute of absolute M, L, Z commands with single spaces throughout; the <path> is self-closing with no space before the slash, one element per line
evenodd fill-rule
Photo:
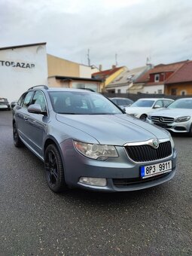
<path fill-rule="evenodd" d="M 192 61 L 187 61 L 165 82 L 166 95 L 192 95 Z"/>

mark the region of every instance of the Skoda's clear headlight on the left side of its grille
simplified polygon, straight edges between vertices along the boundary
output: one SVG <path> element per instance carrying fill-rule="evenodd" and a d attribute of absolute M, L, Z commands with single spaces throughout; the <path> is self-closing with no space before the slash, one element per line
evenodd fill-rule
<path fill-rule="evenodd" d="M 107 157 L 118 157 L 116 148 L 111 145 L 90 144 L 74 141 L 75 148 L 86 157 L 105 160 Z"/>

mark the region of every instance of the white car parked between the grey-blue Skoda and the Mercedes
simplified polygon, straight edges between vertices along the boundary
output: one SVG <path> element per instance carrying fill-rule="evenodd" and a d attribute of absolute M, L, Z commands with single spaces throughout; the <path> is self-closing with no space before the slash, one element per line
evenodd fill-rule
<path fill-rule="evenodd" d="M 144 98 L 138 99 L 130 107 L 125 108 L 126 114 L 131 114 L 133 117 L 146 120 L 149 113 L 157 111 L 157 108 L 165 108 L 170 103 L 174 102 L 173 99 L 158 99 L 158 98 Z"/>

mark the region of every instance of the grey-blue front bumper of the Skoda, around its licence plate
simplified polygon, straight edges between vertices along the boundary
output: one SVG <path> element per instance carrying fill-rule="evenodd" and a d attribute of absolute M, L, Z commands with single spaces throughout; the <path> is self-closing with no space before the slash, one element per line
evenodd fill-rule
<path fill-rule="evenodd" d="M 145 163 L 136 163 L 130 160 L 123 147 L 116 147 L 119 157 L 111 157 L 108 160 L 93 160 L 84 157 L 74 148 L 72 140 L 62 142 L 60 145 L 62 160 L 64 163 L 66 184 L 69 187 L 82 187 L 88 190 L 98 191 L 130 191 L 154 187 L 172 179 L 176 169 L 176 151 L 166 160 L 172 160 L 172 171 L 142 179 L 140 167 L 154 163 L 162 163 L 165 159 Z M 81 177 L 105 178 L 107 183 L 104 187 L 83 184 Z"/>

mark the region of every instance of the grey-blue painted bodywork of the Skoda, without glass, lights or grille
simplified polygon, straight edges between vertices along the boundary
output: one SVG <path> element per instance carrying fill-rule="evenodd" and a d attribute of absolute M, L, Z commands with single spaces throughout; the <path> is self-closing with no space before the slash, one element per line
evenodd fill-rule
<path fill-rule="evenodd" d="M 51 90 L 54 91 L 54 89 Z M 82 92 L 81 90 L 70 89 L 56 90 Z M 172 154 L 166 159 L 160 158 L 139 163 L 129 157 L 125 148 L 127 143 L 130 142 L 134 142 L 136 145 L 147 145 L 148 140 L 153 139 L 157 139 L 159 142 L 162 139 L 170 141 L 171 137 L 166 130 L 151 126 L 151 124 L 130 117 L 128 114 L 123 114 L 123 111 L 121 114 L 58 114 L 53 111 L 53 103 L 51 103 L 49 96 L 50 90 L 41 89 L 41 91 L 46 98 L 47 114 L 29 112 L 27 108 L 22 106 L 22 100 L 19 100 L 18 105 L 14 107 L 13 122 L 17 125 L 22 142 L 41 160 L 44 160 L 44 151 L 47 145 L 49 143 L 56 145 L 62 158 L 65 181 L 69 187 L 83 187 L 90 190 L 110 192 L 138 190 L 162 184 L 175 175 L 175 148 L 172 148 Z M 35 93 L 29 105 L 32 104 L 34 95 Z M 110 102 L 110 104 L 112 103 Z M 119 113 L 119 111 L 117 112 Z M 115 146 L 117 156 L 106 157 L 104 160 L 86 157 L 75 148 L 75 141 Z M 139 180 L 141 178 L 141 166 L 163 163 L 165 160 L 172 160 L 172 170 L 169 173 L 158 175 L 157 178 L 154 177 L 150 181 L 148 178 L 145 181 Z M 80 182 L 82 176 L 105 178 L 107 184 L 105 187 L 82 184 Z M 125 187 L 117 187 L 114 185 L 114 179 L 116 178 L 136 179 L 137 181 L 130 182 Z"/>

